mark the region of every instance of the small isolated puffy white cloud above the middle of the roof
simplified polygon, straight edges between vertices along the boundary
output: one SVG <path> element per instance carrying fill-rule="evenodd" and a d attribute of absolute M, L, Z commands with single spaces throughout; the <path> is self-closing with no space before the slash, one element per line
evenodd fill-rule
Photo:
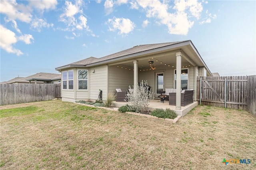
<path fill-rule="evenodd" d="M 119 30 L 118 34 L 128 34 L 130 33 L 134 27 L 135 24 L 129 20 L 128 18 L 116 18 L 114 17 L 113 19 L 108 19 L 107 22 L 110 27 L 109 31 L 116 31 Z"/>

